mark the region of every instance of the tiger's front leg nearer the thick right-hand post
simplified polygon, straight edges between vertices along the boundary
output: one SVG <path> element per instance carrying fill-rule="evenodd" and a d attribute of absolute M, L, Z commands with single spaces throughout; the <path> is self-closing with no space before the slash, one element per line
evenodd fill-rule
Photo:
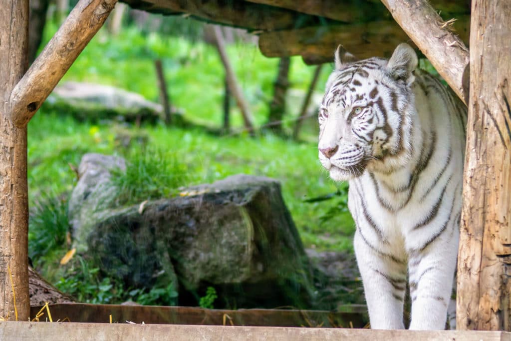
<path fill-rule="evenodd" d="M 423 252 L 410 255 L 410 329 L 445 329 L 459 235 L 457 225 L 451 226 L 451 229 L 445 239 L 436 240 Z"/>

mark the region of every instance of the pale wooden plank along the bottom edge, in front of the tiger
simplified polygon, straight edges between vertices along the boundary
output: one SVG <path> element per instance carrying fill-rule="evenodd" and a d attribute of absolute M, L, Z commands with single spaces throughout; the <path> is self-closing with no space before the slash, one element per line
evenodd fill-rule
<path fill-rule="evenodd" d="M 223 340 L 223 341 L 330 341 L 330 340 L 463 340 L 509 341 L 499 331 L 412 331 L 343 328 L 238 327 L 187 325 L 133 325 L 95 323 L 0 322 L 3 340 Z"/>

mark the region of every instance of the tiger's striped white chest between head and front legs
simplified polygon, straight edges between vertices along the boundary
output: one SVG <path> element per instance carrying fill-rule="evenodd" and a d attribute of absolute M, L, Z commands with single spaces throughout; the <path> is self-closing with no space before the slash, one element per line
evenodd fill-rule
<path fill-rule="evenodd" d="M 436 220 L 453 214 L 457 189 L 449 181 L 446 186 L 435 185 L 428 172 L 413 175 L 403 169 L 392 182 L 364 172 L 350 181 L 349 192 L 348 206 L 359 233 L 382 251 L 406 255 L 434 233 L 439 226 Z"/>

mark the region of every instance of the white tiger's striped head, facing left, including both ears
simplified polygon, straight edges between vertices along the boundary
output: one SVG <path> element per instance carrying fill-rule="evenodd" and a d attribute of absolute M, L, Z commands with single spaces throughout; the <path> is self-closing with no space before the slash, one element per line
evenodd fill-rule
<path fill-rule="evenodd" d="M 416 67 L 417 55 L 405 43 L 389 60 L 358 61 L 337 48 L 319 108 L 319 160 L 332 179 L 390 171 L 409 160 Z"/>

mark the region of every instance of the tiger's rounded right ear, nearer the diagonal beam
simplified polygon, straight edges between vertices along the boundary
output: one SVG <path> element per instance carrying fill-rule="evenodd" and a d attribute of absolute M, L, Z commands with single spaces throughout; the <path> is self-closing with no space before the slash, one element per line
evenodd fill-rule
<path fill-rule="evenodd" d="M 415 51 L 407 43 L 401 43 L 392 53 L 387 63 L 387 71 L 390 77 L 402 79 L 410 85 L 415 80 L 413 73 L 418 63 Z"/>

